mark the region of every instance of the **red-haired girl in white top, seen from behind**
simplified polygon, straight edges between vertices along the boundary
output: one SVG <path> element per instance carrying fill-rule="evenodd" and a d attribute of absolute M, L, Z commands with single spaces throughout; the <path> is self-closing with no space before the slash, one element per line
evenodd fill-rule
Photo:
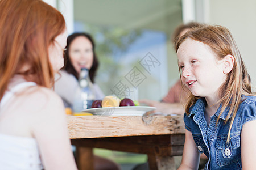
<path fill-rule="evenodd" d="M 51 90 L 64 64 L 63 15 L 40 0 L 1 0 L 0 11 L 0 169 L 77 169 Z"/>

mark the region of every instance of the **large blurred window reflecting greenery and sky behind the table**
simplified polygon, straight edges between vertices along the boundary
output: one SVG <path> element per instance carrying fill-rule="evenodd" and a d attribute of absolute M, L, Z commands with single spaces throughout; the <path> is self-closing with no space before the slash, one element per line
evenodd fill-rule
<path fill-rule="evenodd" d="M 160 100 L 179 78 L 170 40 L 181 0 L 74 1 L 75 32 L 94 37 L 105 95 Z"/>

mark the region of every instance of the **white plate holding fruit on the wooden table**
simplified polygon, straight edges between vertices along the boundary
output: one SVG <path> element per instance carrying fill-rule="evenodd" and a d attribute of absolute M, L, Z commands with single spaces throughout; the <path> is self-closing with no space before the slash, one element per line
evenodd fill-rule
<path fill-rule="evenodd" d="M 148 111 L 155 110 L 155 107 L 147 106 L 130 106 L 130 107 L 108 107 L 108 108 L 92 108 L 82 112 L 92 113 L 102 116 L 142 116 Z"/>

